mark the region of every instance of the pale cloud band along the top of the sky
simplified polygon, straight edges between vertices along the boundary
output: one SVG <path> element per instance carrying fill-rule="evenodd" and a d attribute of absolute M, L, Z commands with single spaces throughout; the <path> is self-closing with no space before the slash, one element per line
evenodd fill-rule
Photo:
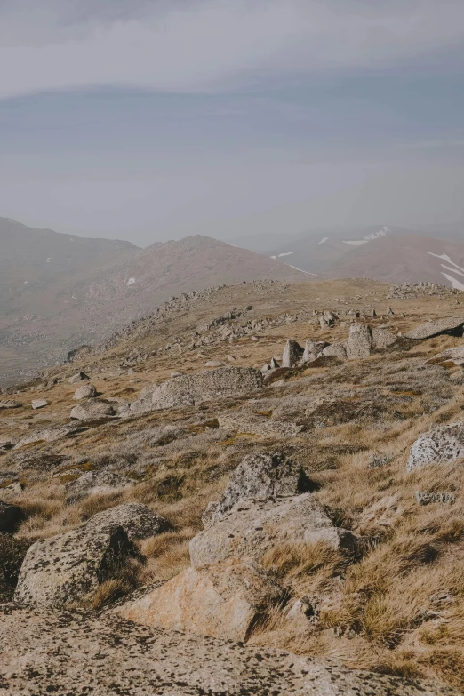
<path fill-rule="evenodd" d="M 0 97 L 124 86 L 228 92 L 461 52 L 462 0 L 12 0 Z M 461 56 L 462 57 L 462 56 Z"/>

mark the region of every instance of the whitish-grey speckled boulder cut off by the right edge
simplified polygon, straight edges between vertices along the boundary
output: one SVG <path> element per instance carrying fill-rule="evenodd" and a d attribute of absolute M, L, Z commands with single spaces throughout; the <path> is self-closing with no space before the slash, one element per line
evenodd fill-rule
<path fill-rule="evenodd" d="M 464 423 L 432 428 L 412 444 L 408 471 L 427 464 L 447 464 L 464 457 Z"/>

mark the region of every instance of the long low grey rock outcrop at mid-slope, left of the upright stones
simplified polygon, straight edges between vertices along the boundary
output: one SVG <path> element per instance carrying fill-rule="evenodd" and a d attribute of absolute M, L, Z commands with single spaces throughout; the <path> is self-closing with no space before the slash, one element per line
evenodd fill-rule
<path fill-rule="evenodd" d="M 165 381 L 153 391 L 151 407 L 179 408 L 202 404 L 204 401 L 224 396 L 244 396 L 262 388 L 262 385 L 260 370 L 252 367 L 220 367 L 217 370 L 185 374 Z"/>

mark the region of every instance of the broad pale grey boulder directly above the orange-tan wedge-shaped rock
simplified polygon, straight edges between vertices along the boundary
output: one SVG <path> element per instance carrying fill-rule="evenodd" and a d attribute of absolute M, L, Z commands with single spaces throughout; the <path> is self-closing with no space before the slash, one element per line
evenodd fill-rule
<path fill-rule="evenodd" d="M 236 503 L 220 522 L 196 534 L 190 541 L 190 561 L 195 567 L 230 557 L 259 562 L 269 548 L 316 541 L 351 550 L 356 537 L 334 527 L 310 493 L 277 500 L 245 500 Z"/>

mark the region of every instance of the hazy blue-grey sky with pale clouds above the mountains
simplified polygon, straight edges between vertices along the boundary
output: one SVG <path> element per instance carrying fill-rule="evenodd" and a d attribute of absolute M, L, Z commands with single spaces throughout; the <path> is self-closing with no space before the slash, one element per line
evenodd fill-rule
<path fill-rule="evenodd" d="M 0 0 L 0 216 L 149 244 L 464 209 L 464 0 Z"/>

